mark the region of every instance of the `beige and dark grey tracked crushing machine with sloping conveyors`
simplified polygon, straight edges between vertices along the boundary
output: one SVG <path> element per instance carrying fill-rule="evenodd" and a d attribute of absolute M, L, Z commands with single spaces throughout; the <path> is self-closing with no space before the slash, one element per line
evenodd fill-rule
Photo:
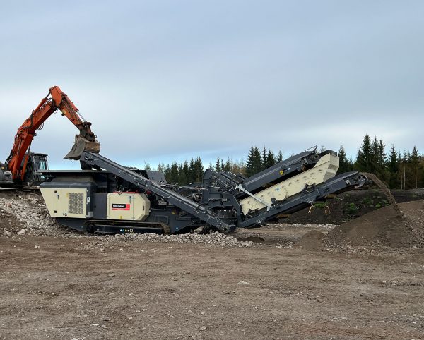
<path fill-rule="evenodd" d="M 205 225 L 230 233 L 367 182 L 357 171 L 336 176 L 330 150 L 301 152 L 249 178 L 207 169 L 201 184 L 185 187 L 93 152 L 80 161 L 90 170 L 42 171 L 40 190 L 60 224 L 95 233 L 187 233 Z"/>

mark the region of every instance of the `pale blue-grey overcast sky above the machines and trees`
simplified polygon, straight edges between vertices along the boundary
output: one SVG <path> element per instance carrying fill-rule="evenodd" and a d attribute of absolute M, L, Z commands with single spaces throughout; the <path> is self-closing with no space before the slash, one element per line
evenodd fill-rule
<path fill-rule="evenodd" d="M 1 1 L 0 159 L 49 87 L 124 165 L 200 155 L 424 152 L 424 1 Z M 52 169 L 78 130 L 54 114 Z"/>

